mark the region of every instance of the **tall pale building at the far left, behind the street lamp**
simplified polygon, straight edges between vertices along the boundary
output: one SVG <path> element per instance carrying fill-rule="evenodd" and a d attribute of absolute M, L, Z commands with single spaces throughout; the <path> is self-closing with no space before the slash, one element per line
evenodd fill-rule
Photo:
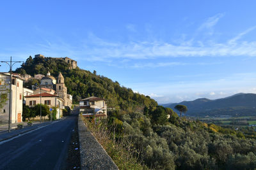
<path fill-rule="evenodd" d="M 12 76 L 11 90 L 11 123 L 22 122 L 22 101 L 23 101 L 23 81 L 21 78 Z M 10 102 L 10 73 L 0 73 L 0 94 L 6 94 L 7 101 L 0 108 L 0 123 L 9 122 L 9 102 Z"/>

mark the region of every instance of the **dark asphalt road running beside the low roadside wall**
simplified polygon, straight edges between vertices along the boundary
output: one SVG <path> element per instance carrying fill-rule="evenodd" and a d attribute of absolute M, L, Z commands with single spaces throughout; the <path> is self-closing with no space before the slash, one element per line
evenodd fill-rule
<path fill-rule="evenodd" d="M 0 169 L 63 169 L 77 113 L 0 144 Z"/>

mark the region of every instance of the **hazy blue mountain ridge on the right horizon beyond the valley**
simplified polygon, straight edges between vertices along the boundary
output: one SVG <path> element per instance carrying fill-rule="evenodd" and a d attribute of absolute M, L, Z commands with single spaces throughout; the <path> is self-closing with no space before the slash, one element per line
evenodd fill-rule
<path fill-rule="evenodd" d="M 177 104 L 187 106 L 189 116 L 256 116 L 256 94 L 235 94 L 215 100 L 200 98 L 195 101 L 165 104 L 164 107 L 174 110 Z"/>

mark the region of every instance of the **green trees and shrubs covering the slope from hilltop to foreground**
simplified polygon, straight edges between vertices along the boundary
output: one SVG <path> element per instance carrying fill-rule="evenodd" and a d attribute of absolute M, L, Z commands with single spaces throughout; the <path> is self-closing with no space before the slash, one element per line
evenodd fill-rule
<path fill-rule="evenodd" d="M 29 57 L 16 71 L 31 75 L 50 71 L 54 76 L 61 71 L 74 101 L 88 96 L 105 97 L 108 106 L 116 110 L 108 111 L 108 120 L 92 118 L 86 124 L 120 169 L 256 168 L 255 133 L 244 135 L 179 118 L 172 109 L 157 106 L 150 97 L 95 72 L 68 69 L 63 60 Z"/>

